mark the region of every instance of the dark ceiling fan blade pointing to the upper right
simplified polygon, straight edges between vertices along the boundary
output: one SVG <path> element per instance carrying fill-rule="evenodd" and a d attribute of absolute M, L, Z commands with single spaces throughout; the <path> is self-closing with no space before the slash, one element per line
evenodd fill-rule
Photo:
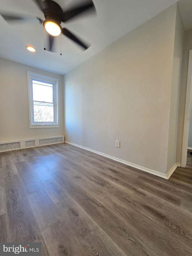
<path fill-rule="evenodd" d="M 81 14 L 84 11 L 86 11 L 86 13 L 91 11 L 92 13 L 96 14 L 95 5 L 94 5 L 92 0 L 89 0 L 89 2 L 86 5 L 81 5 L 79 7 L 73 8 L 69 11 L 63 12 L 63 16 L 61 17 L 61 21 L 66 22 L 66 21 L 72 19 L 73 17 Z"/>

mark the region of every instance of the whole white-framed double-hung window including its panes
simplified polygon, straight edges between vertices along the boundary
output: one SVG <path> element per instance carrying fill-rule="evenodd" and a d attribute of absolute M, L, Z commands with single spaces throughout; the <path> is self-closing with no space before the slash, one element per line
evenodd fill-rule
<path fill-rule="evenodd" d="M 59 127 L 58 79 L 27 72 L 30 128 Z"/>

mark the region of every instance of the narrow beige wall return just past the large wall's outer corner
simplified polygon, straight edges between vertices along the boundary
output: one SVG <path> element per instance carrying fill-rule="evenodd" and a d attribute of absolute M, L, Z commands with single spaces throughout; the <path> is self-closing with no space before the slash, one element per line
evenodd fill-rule
<path fill-rule="evenodd" d="M 177 130 L 178 130 L 177 128 L 178 128 L 179 94 L 180 94 L 181 67 L 182 67 L 182 54 L 183 54 L 183 37 L 184 37 L 184 26 L 183 26 L 182 17 L 179 11 L 179 5 L 177 5 L 175 43 L 174 43 L 174 55 L 173 55 L 172 88 L 171 88 L 167 172 L 176 163 Z"/>

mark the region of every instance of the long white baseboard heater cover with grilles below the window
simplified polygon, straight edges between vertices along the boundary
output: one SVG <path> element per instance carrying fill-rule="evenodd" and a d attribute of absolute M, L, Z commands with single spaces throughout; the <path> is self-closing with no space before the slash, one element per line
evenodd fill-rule
<path fill-rule="evenodd" d="M 0 152 L 64 143 L 64 135 L 0 142 Z"/>

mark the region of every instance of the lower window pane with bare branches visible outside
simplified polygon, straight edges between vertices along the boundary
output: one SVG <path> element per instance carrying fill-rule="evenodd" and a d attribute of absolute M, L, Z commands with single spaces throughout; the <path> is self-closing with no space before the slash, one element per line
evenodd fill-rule
<path fill-rule="evenodd" d="M 54 122 L 53 104 L 34 102 L 34 122 Z"/>

